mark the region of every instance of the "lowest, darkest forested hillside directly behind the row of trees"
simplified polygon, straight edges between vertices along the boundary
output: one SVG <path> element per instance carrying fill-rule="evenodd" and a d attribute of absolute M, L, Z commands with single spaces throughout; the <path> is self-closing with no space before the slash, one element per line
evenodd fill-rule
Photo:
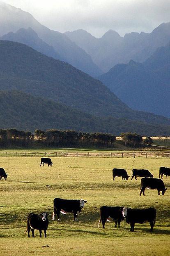
<path fill-rule="evenodd" d="M 170 134 L 170 126 L 122 118 L 94 117 L 52 100 L 34 97 L 17 90 L 0 92 L 0 128 L 32 132 L 35 129 L 74 129 L 115 135 L 129 130 L 148 136 Z"/>

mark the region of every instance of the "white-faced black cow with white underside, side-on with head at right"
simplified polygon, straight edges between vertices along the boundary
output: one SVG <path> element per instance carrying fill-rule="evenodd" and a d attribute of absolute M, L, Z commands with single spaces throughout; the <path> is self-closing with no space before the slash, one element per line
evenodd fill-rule
<path fill-rule="evenodd" d="M 71 213 L 73 212 L 74 220 L 78 220 L 78 212 L 80 213 L 82 208 L 84 207 L 84 204 L 87 203 L 87 201 L 80 199 L 62 199 L 62 198 L 55 198 L 53 200 L 54 203 L 54 211 L 53 211 L 53 219 L 55 220 L 55 215 L 57 214 L 58 221 L 60 221 L 60 212 L 63 214 Z"/>

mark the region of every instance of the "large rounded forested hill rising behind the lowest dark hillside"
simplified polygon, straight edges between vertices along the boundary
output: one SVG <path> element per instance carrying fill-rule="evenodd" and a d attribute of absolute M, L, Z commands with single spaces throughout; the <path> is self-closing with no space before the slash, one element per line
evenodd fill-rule
<path fill-rule="evenodd" d="M 31 47 L 0 41 L 0 90 L 23 90 L 96 116 L 170 124 L 170 119 L 133 111 L 99 80 Z"/>

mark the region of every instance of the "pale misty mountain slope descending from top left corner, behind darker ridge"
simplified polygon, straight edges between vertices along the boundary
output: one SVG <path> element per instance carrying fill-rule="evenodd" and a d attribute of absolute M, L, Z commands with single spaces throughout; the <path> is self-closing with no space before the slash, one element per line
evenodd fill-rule
<path fill-rule="evenodd" d="M 9 32 L 15 33 L 20 28 L 32 28 L 40 39 L 53 46 L 60 60 L 68 62 L 92 76 L 101 74 L 101 70 L 93 63 L 90 55 L 66 35 L 41 25 L 30 13 L 0 2 L 0 36 Z"/>

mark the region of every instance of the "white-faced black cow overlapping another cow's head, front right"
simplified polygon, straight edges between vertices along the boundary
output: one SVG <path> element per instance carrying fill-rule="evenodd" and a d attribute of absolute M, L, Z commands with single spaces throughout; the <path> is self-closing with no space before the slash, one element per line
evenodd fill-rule
<path fill-rule="evenodd" d="M 151 226 L 150 231 L 152 232 L 156 221 L 156 209 L 131 209 L 124 207 L 122 216 L 126 218 L 126 223 L 130 223 L 130 231 L 134 231 L 135 223 L 149 222 Z"/>

